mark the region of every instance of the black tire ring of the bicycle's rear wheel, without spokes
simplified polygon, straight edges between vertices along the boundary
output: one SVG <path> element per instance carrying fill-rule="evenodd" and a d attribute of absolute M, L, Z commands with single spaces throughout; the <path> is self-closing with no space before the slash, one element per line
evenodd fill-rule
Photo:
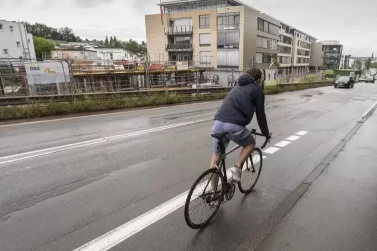
<path fill-rule="evenodd" d="M 200 180 L 203 179 L 203 177 L 205 177 L 206 175 L 208 174 L 211 174 L 211 173 L 215 173 L 217 171 L 217 169 L 215 168 L 211 168 L 211 169 L 208 169 L 206 170 L 205 172 L 203 172 L 194 182 L 194 184 L 191 186 L 190 188 L 190 191 L 189 193 L 187 194 L 187 198 L 186 198 L 186 202 L 185 202 L 185 220 L 186 220 L 186 223 L 189 227 L 193 228 L 193 229 L 199 229 L 199 228 L 202 228 L 204 226 L 206 226 L 211 220 L 212 218 L 216 215 L 217 211 L 219 210 L 220 208 L 220 205 L 221 205 L 221 202 L 223 201 L 223 194 L 224 194 L 224 191 L 225 191 L 225 180 L 224 180 L 224 175 L 222 174 L 222 172 L 219 172 L 219 178 L 221 180 L 221 199 L 219 200 L 219 203 L 218 205 L 215 207 L 215 210 L 212 212 L 212 215 L 207 219 L 205 220 L 204 222 L 201 222 L 201 223 L 194 223 L 192 222 L 191 218 L 190 218 L 190 212 L 189 212 L 189 206 L 190 206 L 190 201 L 191 201 L 191 196 L 195 190 L 195 187 L 199 184 Z M 210 184 L 208 184 L 210 185 Z"/>

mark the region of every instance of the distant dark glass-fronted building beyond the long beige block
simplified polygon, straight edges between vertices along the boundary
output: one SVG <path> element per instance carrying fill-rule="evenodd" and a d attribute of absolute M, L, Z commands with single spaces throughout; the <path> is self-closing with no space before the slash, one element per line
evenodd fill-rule
<path fill-rule="evenodd" d="M 340 65 L 341 53 L 343 45 L 336 40 L 320 41 L 324 53 L 323 64 L 328 69 L 338 69 Z"/>

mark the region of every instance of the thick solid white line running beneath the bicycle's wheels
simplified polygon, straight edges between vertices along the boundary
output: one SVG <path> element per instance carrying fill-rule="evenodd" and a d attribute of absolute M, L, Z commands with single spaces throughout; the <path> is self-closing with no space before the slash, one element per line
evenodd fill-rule
<path fill-rule="evenodd" d="M 255 158 L 254 158 L 255 157 Z M 265 158 L 266 156 L 263 156 Z M 253 162 L 259 162 L 260 159 L 259 155 L 253 156 Z M 250 159 L 249 159 L 250 161 Z M 255 163 L 257 163 L 255 162 Z M 243 167 L 245 167 L 244 165 Z M 231 172 L 228 169 L 226 171 L 227 177 L 231 177 Z M 207 181 L 200 183 L 199 186 L 202 184 L 206 184 Z M 220 181 L 219 181 L 220 182 Z M 209 186 L 207 186 L 208 188 Z M 181 206 L 186 203 L 186 198 L 190 190 L 187 190 L 178 196 L 166 201 L 165 203 L 143 213 L 142 215 L 128 221 L 127 223 L 118 226 L 117 228 L 101 235 L 100 237 L 93 239 L 92 241 L 80 246 L 79 248 L 75 249 L 74 251 L 107 251 L 110 248 L 116 246 L 120 242 L 128 239 L 132 235 L 138 233 L 139 231 L 143 230 L 144 228 L 148 227 L 149 225 L 153 224 L 154 222 L 162 219 L 166 215 L 172 213 L 173 211 L 177 210 Z M 199 196 L 199 192 L 195 190 L 191 196 L 191 200 L 196 199 Z"/>

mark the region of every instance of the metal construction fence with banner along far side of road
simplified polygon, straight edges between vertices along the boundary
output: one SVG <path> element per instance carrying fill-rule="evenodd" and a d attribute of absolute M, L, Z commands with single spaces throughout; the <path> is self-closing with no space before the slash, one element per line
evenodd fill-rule
<path fill-rule="evenodd" d="M 198 60 L 196 60 L 198 59 Z M 0 58 L 0 96 L 196 87 L 213 83 L 213 58 L 191 61 Z"/>

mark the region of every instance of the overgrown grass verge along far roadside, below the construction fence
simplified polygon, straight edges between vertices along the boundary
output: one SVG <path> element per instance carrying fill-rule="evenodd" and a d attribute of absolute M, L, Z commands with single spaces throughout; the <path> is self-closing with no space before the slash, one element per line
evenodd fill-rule
<path fill-rule="evenodd" d="M 265 94 L 274 94 L 289 90 L 299 90 L 332 85 L 332 82 L 312 82 L 300 84 L 281 84 L 265 88 Z M 107 97 L 87 97 L 82 100 L 48 102 L 30 101 L 27 105 L 11 105 L 0 107 L 0 119 L 34 118 L 76 112 L 112 110 L 120 108 L 136 108 L 162 104 L 195 102 L 205 100 L 223 99 L 227 92 L 208 93 L 200 95 L 178 95 L 174 91 L 164 94 L 152 94 L 149 97 L 124 97 L 114 94 Z"/>

